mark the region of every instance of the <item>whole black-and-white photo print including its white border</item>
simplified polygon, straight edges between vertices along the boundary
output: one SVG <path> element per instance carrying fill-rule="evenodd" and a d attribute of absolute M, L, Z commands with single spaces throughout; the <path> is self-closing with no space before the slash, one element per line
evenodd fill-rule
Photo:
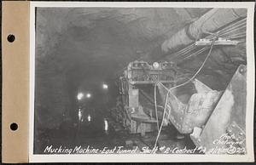
<path fill-rule="evenodd" d="M 47 4 L 32 6 L 32 156 L 253 160 L 249 3 Z"/>

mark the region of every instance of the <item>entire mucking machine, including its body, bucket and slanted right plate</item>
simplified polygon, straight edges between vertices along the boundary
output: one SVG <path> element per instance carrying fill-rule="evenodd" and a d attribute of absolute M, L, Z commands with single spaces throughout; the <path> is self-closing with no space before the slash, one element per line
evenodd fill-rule
<path fill-rule="evenodd" d="M 245 147 L 247 66 L 240 65 L 224 91 L 212 90 L 198 79 L 180 77 L 172 62 L 131 62 L 119 78 L 124 111 L 122 122 L 131 134 L 158 130 L 172 124 L 180 134 L 189 134 L 198 147 L 214 148 L 222 134 Z M 168 94 L 168 95 L 167 95 Z M 220 145 L 222 146 L 222 145 Z"/>

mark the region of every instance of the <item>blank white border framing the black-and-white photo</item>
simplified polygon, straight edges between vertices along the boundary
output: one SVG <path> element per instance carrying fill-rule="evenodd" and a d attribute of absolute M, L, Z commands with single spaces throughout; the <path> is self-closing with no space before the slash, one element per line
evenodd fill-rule
<path fill-rule="evenodd" d="M 35 155 L 34 141 L 34 87 L 35 87 L 35 9 L 41 8 L 240 8 L 247 9 L 247 115 L 246 155 L 174 155 L 174 154 L 84 154 Z M 254 109 L 254 40 L 253 2 L 173 3 L 173 2 L 30 2 L 30 121 L 29 162 L 254 162 L 253 109 Z"/>

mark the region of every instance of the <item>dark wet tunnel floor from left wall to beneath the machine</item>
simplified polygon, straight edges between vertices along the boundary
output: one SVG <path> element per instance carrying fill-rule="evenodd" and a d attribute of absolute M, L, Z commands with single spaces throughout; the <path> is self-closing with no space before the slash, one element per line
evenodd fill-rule
<path fill-rule="evenodd" d="M 148 150 L 154 148 L 155 139 L 158 132 L 149 132 L 144 136 L 141 134 L 129 134 L 119 122 L 113 121 L 107 113 L 96 113 L 96 115 L 86 114 L 82 120 L 76 124 L 63 124 L 58 129 L 44 129 L 38 131 L 35 136 L 35 154 L 47 154 L 45 150 L 52 145 L 52 148 L 98 148 L 113 149 L 122 147 L 124 150 L 138 148 L 142 153 L 143 148 Z M 108 127 L 106 128 L 106 121 Z M 173 126 L 163 128 L 158 140 L 158 146 L 183 149 L 186 147 L 195 148 L 195 145 L 185 136 L 183 139 L 177 139 L 177 130 Z M 160 153 L 160 152 L 159 152 Z"/>

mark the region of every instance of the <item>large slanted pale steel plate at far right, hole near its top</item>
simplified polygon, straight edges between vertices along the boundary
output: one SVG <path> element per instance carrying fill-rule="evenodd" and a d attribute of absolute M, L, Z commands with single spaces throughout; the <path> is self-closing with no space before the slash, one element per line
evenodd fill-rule
<path fill-rule="evenodd" d="M 223 151 L 225 154 L 246 152 L 246 91 L 247 66 L 240 65 L 206 126 L 194 128 L 193 134 L 190 134 L 195 145 L 204 147 L 209 154 L 224 154 Z M 225 141 L 224 145 L 221 141 Z"/>

